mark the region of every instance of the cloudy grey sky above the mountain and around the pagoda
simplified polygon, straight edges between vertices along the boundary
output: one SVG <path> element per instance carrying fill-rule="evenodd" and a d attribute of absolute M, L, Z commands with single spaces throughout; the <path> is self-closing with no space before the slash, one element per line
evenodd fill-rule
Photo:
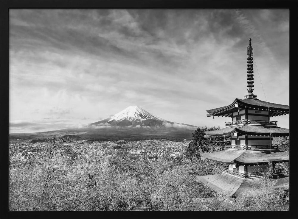
<path fill-rule="evenodd" d="M 287 9 L 9 14 L 10 133 L 82 127 L 135 105 L 167 121 L 223 128 L 231 118 L 206 110 L 248 94 L 249 37 L 253 93 L 289 105 Z M 289 128 L 289 115 L 271 120 Z"/>

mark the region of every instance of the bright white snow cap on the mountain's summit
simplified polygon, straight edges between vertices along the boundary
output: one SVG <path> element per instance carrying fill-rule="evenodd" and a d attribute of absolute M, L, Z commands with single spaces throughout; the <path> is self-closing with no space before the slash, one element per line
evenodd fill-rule
<path fill-rule="evenodd" d="M 116 113 L 115 115 L 112 115 L 109 121 L 121 121 L 121 120 L 142 121 L 146 119 L 154 119 L 154 120 L 167 122 L 166 120 L 159 118 L 155 115 L 152 115 L 151 113 L 147 112 L 146 110 L 143 110 L 138 106 L 130 106 L 125 108 L 124 110 Z"/>

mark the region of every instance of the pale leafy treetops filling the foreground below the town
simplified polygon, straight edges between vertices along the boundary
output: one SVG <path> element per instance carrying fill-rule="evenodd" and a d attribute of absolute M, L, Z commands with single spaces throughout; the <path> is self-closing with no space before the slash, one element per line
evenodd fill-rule
<path fill-rule="evenodd" d="M 10 163 L 10 210 L 287 210 L 283 191 L 233 205 L 195 181 L 221 166 L 196 157 L 140 160 L 125 143 L 109 152 L 72 150 L 51 139 L 44 156 Z M 13 153 L 13 152 L 11 152 Z M 267 188 L 265 186 L 264 188 Z M 263 198 L 262 198 L 263 197 Z M 275 208 L 274 207 L 277 207 Z"/>

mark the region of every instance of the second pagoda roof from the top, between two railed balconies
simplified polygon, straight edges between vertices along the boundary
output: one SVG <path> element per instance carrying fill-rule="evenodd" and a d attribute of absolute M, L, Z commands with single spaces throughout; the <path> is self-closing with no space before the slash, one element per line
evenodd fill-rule
<path fill-rule="evenodd" d="M 205 134 L 209 136 L 224 136 L 232 135 L 234 133 L 240 134 L 250 134 L 250 135 L 279 135 L 279 136 L 288 136 L 290 129 L 280 128 L 277 126 L 252 126 L 252 125 L 240 125 L 234 127 L 227 127 L 224 129 L 217 129 L 213 131 L 206 131 Z"/>

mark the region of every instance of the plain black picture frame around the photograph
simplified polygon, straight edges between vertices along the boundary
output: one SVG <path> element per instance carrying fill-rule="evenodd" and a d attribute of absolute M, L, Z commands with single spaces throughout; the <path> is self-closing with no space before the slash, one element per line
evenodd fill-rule
<path fill-rule="evenodd" d="M 1 167 L 1 182 L 0 182 L 0 218 L 72 218 L 72 217 L 121 217 L 121 218 L 298 218 L 297 204 L 297 9 L 298 1 L 296 0 L 277 0 L 277 1 L 253 1 L 253 0 L 210 0 L 210 1 L 133 1 L 133 0 L 103 0 L 103 1 L 72 1 L 72 0 L 1 0 L 0 1 L 0 167 Z M 8 206 L 8 179 L 9 179 L 9 9 L 13 8 L 199 8 L 199 9 L 215 9 L 215 8 L 288 8 L 290 9 L 290 159 L 291 159 L 291 177 L 290 177 L 290 211 L 286 212 L 12 212 Z"/>

